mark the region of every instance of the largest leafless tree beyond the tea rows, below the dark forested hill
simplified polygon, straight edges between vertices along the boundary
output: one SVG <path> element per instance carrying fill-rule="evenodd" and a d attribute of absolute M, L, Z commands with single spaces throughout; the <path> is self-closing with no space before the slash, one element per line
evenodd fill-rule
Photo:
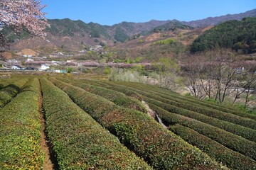
<path fill-rule="evenodd" d="M 223 103 L 233 92 L 240 58 L 229 50 L 214 50 L 190 57 L 186 64 L 186 86 L 197 98 L 215 98 Z"/>

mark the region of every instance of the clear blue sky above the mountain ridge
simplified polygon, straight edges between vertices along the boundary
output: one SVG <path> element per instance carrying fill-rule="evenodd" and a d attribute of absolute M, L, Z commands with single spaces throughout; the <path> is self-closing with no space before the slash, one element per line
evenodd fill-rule
<path fill-rule="evenodd" d="M 193 21 L 209 16 L 242 13 L 256 0 L 42 0 L 46 18 L 70 18 L 112 26 L 122 21 Z"/>

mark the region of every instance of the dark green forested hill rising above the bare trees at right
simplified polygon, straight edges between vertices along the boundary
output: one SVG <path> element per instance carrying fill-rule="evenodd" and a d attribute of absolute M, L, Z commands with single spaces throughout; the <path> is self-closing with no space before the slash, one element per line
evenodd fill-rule
<path fill-rule="evenodd" d="M 233 48 L 243 53 L 256 52 L 256 18 L 226 21 L 207 30 L 191 45 L 191 52 Z"/>

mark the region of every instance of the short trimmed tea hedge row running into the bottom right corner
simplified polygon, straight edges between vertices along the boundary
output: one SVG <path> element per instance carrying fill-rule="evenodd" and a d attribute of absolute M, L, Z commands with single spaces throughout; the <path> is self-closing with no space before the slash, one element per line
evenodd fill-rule
<path fill-rule="evenodd" d="M 220 143 L 210 140 L 210 138 L 200 133 L 186 128 L 183 125 L 171 125 L 171 131 L 179 135 L 193 146 L 198 147 L 206 152 L 210 157 L 215 158 L 218 162 L 225 164 L 230 169 L 256 169 L 256 162 L 253 159 L 245 157 L 238 152 L 234 152 Z"/>

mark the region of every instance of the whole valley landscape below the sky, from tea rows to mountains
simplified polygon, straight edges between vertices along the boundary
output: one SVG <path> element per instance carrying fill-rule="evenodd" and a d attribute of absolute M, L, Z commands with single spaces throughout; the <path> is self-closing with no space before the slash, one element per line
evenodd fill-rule
<path fill-rule="evenodd" d="M 256 9 L 26 24 L 0 27 L 0 169 L 256 169 Z"/>

